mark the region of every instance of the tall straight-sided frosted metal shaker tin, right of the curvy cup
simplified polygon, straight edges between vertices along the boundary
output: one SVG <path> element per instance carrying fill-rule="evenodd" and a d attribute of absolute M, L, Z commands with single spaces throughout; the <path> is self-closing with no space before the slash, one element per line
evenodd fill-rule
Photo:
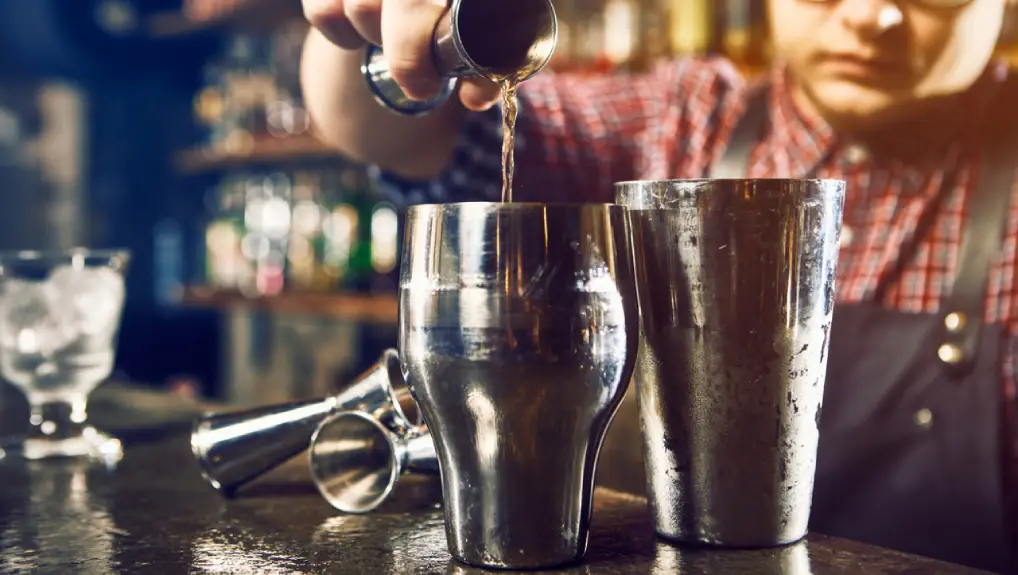
<path fill-rule="evenodd" d="M 727 547 L 806 533 L 845 183 L 624 182 L 634 378 L 658 532 Z"/>

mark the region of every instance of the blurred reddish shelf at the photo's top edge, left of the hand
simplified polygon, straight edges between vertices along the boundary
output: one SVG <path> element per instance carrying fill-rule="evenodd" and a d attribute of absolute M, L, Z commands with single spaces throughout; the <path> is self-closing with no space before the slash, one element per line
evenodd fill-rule
<path fill-rule="evenodd" d="M 202 18 L 176 10 L 154 14 L 149 18 L 148 33 L 151 38 L 170 39 L 222 30 L 268 30 L 300 16 L 299 0 L 238 0 Z"/>

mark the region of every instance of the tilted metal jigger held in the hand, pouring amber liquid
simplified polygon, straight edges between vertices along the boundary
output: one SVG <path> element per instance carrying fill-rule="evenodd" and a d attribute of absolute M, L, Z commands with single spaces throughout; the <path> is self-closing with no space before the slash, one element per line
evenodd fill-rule
<path fill-rule="evenodd" d="M 552 59 L 558 31 L 551 0 L 453 0 L 432 40 L 435 67 L 447 78 L 438 94 L 423 102 L 407 98 L 378 46 L 367 47 L 360 71 L 383 106 L 419 116 L 444 104 L 459 77 L 531 77 Z"/>

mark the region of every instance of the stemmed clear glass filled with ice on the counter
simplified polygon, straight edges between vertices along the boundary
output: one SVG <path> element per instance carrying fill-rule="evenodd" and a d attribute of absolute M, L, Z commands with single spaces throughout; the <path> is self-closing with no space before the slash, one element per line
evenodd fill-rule
<path fill-rule="evenodd" d="M 0 375 L 29 400 L 29 435 L 0 457 L 119 458 L 87 422 L 89 394 L 113 370 L 124 250 L 0 253 Z"/>

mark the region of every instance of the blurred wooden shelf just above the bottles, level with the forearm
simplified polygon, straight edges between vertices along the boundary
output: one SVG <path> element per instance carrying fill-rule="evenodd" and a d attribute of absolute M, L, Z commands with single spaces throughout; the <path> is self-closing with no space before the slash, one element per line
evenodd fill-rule
<path fill-rule="evenodd" d="M 339 152 L 312 136 L 264 137 L 243 150 L 196 148 L 177 154 L 179 172 L 201 174 L 228 168 L 243 168 L 252 164 L 309 160 L 339 160 Z"/>

